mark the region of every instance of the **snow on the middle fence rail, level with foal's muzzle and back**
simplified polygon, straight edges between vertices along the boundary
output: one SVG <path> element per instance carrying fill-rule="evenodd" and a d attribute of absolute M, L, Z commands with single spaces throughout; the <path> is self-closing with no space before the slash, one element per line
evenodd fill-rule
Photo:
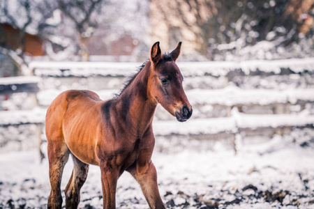
<path fill-rule="evenodd" d="M 37 94 L 38 103 L 49 106 L 61 91 L 57 89 L 40 91 Z M 118 89 L 96 91 L 100 99 L 107 100 L 119 93 Z M 267 105 L 267 104 L 296 104 L 299 101 L 314 102 L 314 88 L 294 88 L 283 91 L 274 89 L 241 89 L 237 86 L 227 86 L 220 89 L 191 89 L 186 91 L 190 103 L 218 104 L 227 107 L 237 105 Z"/>

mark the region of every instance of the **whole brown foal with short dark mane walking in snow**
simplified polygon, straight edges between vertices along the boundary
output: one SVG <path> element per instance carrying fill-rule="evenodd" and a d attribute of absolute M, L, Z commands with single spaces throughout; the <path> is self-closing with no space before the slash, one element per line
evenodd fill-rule
<path fill-rule="evenodd" d="M 156 42 L 144 68 L 112 100 L 78 90 L 65 91 L 54 99 L 45 121 L 51 184 L 48 208 L 61 208 L 61 176 L 69 154 L 74 168 L 65 189 L 66 208 L 77 208 L 80 203 L 89 164 L 101 170 L 103 208 L 115 208 L 117 180 L 124 171 L 140 184 L 149 208 L 165 208 L 151 162 L 152 121 L 158 103 L 178 121 L 192 115 L 175 63 L 180 49 L 181 42 L 170 54 L 161 54 Z"/>

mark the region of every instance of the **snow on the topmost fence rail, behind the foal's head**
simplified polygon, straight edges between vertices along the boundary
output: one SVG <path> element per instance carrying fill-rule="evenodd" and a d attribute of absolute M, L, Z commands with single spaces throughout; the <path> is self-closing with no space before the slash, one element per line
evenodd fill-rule
<path fill-rule="evenodd" d="M 47 62 L 33 61 L 29 67 L 40 77 L 126 77 L 135 72 L 141 63 L 114 62 Z M 211 75 L 227 76 L 230 72 L 250 75 L 257 72 L 280 75 L 287 70 L 291 73 L 314 72 L 314 59 L 285 59 L 273 61 L 209 61 L 178 62 L 177 65 L 186 77 Z"/>

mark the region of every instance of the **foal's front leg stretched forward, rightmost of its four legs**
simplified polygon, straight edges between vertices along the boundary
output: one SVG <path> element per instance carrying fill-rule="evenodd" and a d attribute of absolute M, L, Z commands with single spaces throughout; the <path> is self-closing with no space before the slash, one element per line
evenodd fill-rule
<path fill-rule="evenodd" d="M 150 161 L 142 166 L 137 164 L 136 168 L 129 172 L 140 184 L 145 199 L 149 203 L 149 208 L 165 208 L 159 194 L 157 172 L 153 162 Z"/>

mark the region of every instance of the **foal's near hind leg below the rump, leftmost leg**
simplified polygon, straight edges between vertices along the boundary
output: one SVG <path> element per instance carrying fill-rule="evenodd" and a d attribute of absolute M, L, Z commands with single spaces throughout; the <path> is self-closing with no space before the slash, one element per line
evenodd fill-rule
<path fill-rule="evenodd" d="M 49 160 L 49 177 L 51 192 L 48 199 L 47 208 L 61 208 L 61 177 L 63 168 L 68 161 L 70 151 L 63 141 L 48 140 L 48 160 Z"/>

